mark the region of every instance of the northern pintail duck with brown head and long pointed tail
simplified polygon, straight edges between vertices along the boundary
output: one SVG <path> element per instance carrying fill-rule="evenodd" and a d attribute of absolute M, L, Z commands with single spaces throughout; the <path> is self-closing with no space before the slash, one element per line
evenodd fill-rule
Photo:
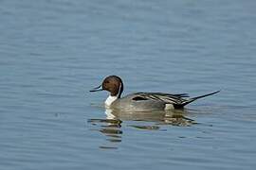
<path fill-rule="evenodd" d="M 121 97 L 123 83 L 119 76 L 105 77 L 101 85 L 90 92 L 98 91 L 108 91 L 110 93 L 105 100 L 107 108 L 129 111 L 182 109 L 198 98 L 220 92 L 216 91 L 192 98 L 189 98 L 188 93 L 130 93 Z"/>

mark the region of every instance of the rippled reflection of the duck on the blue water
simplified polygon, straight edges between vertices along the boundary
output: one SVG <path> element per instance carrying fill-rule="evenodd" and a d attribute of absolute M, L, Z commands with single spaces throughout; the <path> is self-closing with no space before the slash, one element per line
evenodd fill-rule
<path fill-rule="evenodd" d="M 168 110 L 168 111 L 150 111 L 150 112 L 126 112 L 121 110 L 106 109 L 105 119 L 89 119 L 88 122 L 96 127 L 106 136 L 106 141 L 111 146 L 100 146 L 101 148 L 118 148 L 116 144 L 121 142 L 122 121 L 125 121 L 125 127 L 133 127 L 145 130 L 161 130 L 164 125 L 190 127 L 196 122 L 188 117 L 189 110 Z M 128 124 L 128 125 L 127 125 Z M 95 128 L 94 128 L 95 129 Z M 115 144 L 115 146 L 113 146 Z M 109 145 L 109 144 L 108 144 Z"/>

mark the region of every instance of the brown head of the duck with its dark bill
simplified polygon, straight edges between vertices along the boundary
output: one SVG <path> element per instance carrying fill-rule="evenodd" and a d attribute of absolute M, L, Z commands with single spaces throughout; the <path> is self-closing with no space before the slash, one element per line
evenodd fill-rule
<path fill-rule="evenodd" d="M 98 91 L 108 91 L 110 92 L 110 95 L 112 96 L 118 96 L 120 98 L 120 95 L 123 91 L 123 83 L 119 76 L 107 76 L 103 80 L 102 84 L 90 92 L 98 92 Z"/>

